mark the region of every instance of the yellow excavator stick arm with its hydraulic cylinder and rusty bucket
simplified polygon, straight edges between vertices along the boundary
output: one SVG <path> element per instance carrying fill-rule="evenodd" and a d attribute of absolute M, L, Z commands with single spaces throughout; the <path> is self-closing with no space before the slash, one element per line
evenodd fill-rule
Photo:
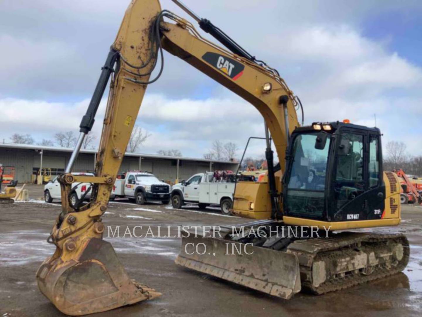
<path fill-rule="evenodd" d="M 60 176 L 62 213 L 49 237 L 49 242 L 56 245 L 56 251 L 38 269 L 37 281 L 41 292 L 68 315 L 103 312 L 160 295 L 129 278 L 111 244 L 102 239 L 104 225 L 100 218 L 106 211 L 146 90 L 146 85 L 134 81 L 147 82 L 156 60 L 156 52 L 151 54 L 154 47 L 150 26 L 160 12 L 157 0 L 130 3 L 105 67 L 114 66 L 114 61 L 123 58 L 127 64 L 122 67 L 120 62 L 114 69 L 103 69 L 87 115 L 82 119 L 81 135 L 92 128 L 111 75 L 95 179 L 90 180 L 95 184 L 92 201 L 79 210 L 71 208 L 68 194 L 70 184 L 77 176 L 70 171 Z M 141 71 L 129 66 L 137 66 L 148 59 L 149 63 Z M 144 75 L 134 75 L 136 72 Z"/>

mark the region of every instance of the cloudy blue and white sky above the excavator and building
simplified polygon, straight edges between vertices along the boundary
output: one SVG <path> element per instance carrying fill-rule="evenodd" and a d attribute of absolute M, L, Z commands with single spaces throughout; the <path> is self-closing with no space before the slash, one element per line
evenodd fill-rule
<path fill-rule="evenodd" d="M 0 1 L 0 140 L 36 141 L 78 131 L 129 0 Z M 374 126 L 422 155 L 422 1 L 184 0 L 252 55 L 277 68 L 300 96 L 305 123 Z M 170 0 L 167 8 L 187 17 Z M 199 29 L 199 27 L 198 27 Z M 104 102 L 94 133 L 99 136 Z M 165 53 L 137 124 L 142 153 L 176 148 L 202 157 L 214 139 L 243 148 L 263 136 L 257 110 Z M 259 155 L 257 142 L 249 154 Z M 240 156 L 239 151 L 239 156 Z"/>

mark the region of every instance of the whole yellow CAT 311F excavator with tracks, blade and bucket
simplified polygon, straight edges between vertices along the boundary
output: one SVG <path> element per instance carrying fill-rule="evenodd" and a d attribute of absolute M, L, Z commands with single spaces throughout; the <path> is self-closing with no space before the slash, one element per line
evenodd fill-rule
<path fill-rule="evenodd" d="M 267 144 L 267 181 L 237 183 L 233 206 L 235 213 L 259 220 L 238 226 L 246 228 L 242 234 L 222 227 L 221 238 L 183 238 L 177 264 L 281 298 L 305 288 L 321 294 L 403 270 L 409 256 L 405 236 L 333 233 L 400 223 L 400 185 L 394 174 L 382 171 L 379 129 L 343 122 L 300 126 L 296 115 L 300 101 L 276 69 L 250 55 L 209 20 L 173 1 L 225 48 L 203 38 L 186 19 L 162 10 L 158 0 L 131 1 L 81 120 L 76 147 L 59 177 L 62 211 L 48 238 L 56 251 L 37 271 L 41 292 L 69 315 L 103 312 L 160 295 L 129 279 L 113 247 L 102 238 L 101 217 L 146 87 L 162 73 L 163 50 L 256 107 L 265 120 Z M 150 79 L 159 60 L 157 76 Z M 95 176 L 72 175 L 110 78 Z M 272 144 L 279 157 L 276 167 Z M 93 184 L 86 205 L 69 203 L 75 182 Z M 317 227 L 317 232 L 328 228 L 327 238 L 271 236 L 283 226 L 303 226 L 305 233 L 308 226 Z M 252 231 L 259 236 L 249 235 Z M 200 242 L 208 254 L 190 252 L 189 243 Z M 227 243 L 250 255 L 225 255 Z"/>

